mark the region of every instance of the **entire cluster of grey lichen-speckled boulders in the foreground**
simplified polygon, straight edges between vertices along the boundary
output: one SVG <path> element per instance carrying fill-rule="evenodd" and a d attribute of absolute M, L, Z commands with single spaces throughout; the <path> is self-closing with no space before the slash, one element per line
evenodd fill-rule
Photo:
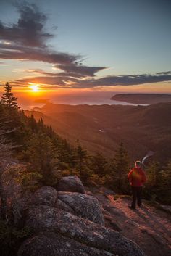
<path fill-rule="evenodd" d="M 67 186 L 70 181 L 79 186 Z M 31 197 L 25 226 L 35 235 L 21 245 L 17 256 L 144 256 L 137 244 L 104 226 L 98 199 L 83 194 L 76 176 L 65 177 L 64 184 L 74 192 L 45 186 Z M 81 193 L 75 192 L 78 188 Z"/>

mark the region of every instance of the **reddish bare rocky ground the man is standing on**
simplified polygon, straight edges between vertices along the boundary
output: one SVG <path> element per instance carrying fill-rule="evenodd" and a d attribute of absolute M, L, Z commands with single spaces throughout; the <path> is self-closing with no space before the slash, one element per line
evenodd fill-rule
<path fill-rule="evenodd" d="M 93 193 L 103 209 L 106 226 L 137 243 L 147 256 L 171 256 L 171 216 L 144 204 L 131 210 L 129 198 Z"/>

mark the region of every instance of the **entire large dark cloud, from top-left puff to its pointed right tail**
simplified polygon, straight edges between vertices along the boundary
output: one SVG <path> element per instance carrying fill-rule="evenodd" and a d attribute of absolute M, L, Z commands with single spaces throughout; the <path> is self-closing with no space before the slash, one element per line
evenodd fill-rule
<path fill-rule="evenodd" d="M 72 77 L 94 76 L 104 67 L 86 67 L 80 64 L 81 56 L 51 49 L 47 39 L 53 37 L 46 32 L 47 16 L 36 4 L 17 4 L 20 17 L 17 24 L 4 25 L 0 22 L 0 58 L 41 61 L 54 64 Z M 66 76 L 66 75 L 65 75 Z"/>

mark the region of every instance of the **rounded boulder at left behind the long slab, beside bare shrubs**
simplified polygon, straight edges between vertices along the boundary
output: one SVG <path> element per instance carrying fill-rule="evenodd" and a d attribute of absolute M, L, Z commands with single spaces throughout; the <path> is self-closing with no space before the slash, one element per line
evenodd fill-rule
<path fill-rule="evenodd" d="M 33 205 L 49 205 L 54 206 L 57 200 L 57 190 L 51 186 L 43 186 L 33 194 Z"/>

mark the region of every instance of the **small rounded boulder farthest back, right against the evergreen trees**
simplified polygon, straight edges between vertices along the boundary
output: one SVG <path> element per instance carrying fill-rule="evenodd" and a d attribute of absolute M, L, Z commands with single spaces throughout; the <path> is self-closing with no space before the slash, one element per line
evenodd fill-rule
<path fill-rule="evenodd" d="M 80 181 L 80 178 L 78 178 L 78 176 L 63 177 L 57 185 L 57 190 L 85 194 L 83 183 Z"/>

